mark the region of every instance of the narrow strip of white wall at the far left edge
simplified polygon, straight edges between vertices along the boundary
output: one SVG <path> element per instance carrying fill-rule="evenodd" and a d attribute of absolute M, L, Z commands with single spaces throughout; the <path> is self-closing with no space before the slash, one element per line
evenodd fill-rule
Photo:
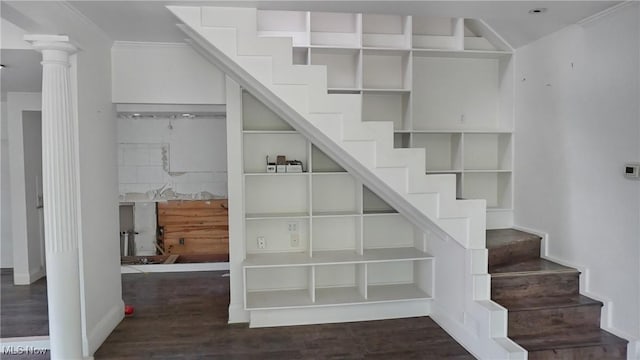
<path fill-rule="evenodd" d="M 0 268 L 13 267 L 8 126 L 7 102 L 2 101 L 0 102 Z"/>

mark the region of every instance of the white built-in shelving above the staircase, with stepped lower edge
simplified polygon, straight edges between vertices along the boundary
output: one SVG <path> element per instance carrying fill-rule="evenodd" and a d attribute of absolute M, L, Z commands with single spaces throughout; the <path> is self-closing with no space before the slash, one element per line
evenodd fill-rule
<path fill-rule="evenodd" d="M 261 36 L 293 37 L 296 64 L 326 65 L 331 93 L 362 94 L 365 121 L 393 121 L 396 147 L 426 149 L 427 173 L 511 225 L 513 61 L 479 20 L 258 11 Z"/>

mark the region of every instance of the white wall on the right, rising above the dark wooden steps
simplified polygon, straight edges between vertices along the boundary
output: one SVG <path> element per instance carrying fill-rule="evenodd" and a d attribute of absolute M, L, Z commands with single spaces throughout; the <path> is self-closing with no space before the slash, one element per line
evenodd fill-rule
<path fill-rule="evenodd" d="M 636 339 L 640 181 L 623 166 L 640 161 L 638 7 L 517 50 L 515 134 L 516 225 L 548 233 L 547 256 L 605 301 L 603 327 Z"/>

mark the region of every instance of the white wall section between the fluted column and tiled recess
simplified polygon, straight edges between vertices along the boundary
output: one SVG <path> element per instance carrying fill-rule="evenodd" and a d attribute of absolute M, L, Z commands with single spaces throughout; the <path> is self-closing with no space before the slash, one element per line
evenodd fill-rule
<path fill-rule="evenodd" d="M 82 46 L 72 69 L 77 81 L 84 346 L 85 355 L 91 355 L 123 318 L 124 304 L 111 48 L 108 42 Z"/>

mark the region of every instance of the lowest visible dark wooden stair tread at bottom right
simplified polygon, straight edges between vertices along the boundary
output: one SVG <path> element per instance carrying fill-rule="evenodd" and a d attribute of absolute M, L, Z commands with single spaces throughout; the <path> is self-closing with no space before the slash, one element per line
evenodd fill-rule
<path fill-rule="evenodd" d="M 527 351 L 627 344 L 627 340 L 605 330 L 567 331 L 561 334 L 528 335 L 511 337 L 511 339 Z"/>

